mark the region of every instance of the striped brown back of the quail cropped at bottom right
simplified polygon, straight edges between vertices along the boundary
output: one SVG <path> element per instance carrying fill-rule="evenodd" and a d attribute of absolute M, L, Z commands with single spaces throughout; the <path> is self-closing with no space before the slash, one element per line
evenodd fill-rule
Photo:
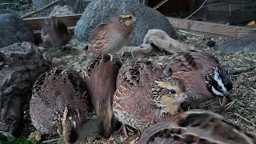
<path fill-rule="evenodd" d="M 146 129 L 139 144 L 150 143 L 244 143 L 254 144 L 256 138 L 219 114 L 190 110 L 165 118 Z"/>

